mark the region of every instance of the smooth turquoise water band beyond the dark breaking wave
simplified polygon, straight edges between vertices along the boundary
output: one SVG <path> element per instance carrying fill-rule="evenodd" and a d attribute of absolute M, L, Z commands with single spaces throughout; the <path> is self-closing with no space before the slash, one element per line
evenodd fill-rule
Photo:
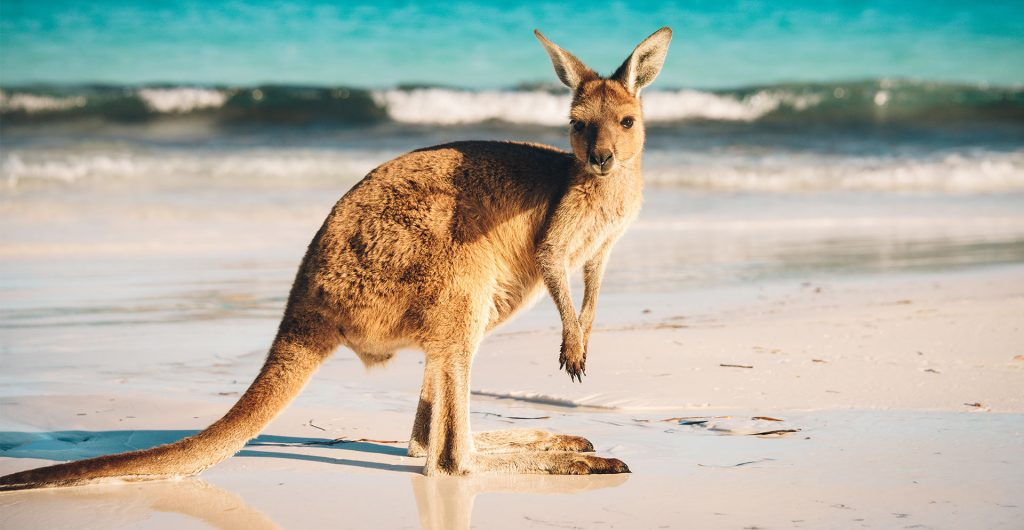
<path fill-rule="evenodd" d="M 468 88 L 550 81 L 540 28 L 601 72 L 662 26 L 660 87 L 883 77 L 1024 82 L 1024 2 L 0 4 L 0 82 Z"/>

